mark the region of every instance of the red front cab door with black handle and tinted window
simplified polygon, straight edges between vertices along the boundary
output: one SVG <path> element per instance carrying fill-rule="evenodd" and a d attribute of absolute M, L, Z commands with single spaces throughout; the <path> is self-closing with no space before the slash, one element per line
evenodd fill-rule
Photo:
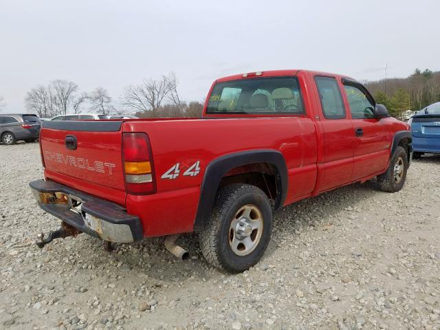
<path fill-rule="evenodd" d="M 383 172 L 388 165 L 391 133 L 386 120 L 374 118 L 375 101 L 369 91 L 351 79 L 342 79 L 353 123 L 354 155 L 351 181 Z"/>

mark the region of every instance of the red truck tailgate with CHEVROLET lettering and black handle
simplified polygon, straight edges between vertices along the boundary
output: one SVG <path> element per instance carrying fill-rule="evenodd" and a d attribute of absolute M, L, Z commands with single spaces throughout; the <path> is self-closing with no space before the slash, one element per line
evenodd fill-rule
<path fill-rule="evenodd" d="M 55 181 L 58 175 L 58 181 L 70 177 L 72 182 L 91 184 L 91 188 L 124 192 L 121 126 L 122 122 L 98 120 L 43 122 L 41 151 L 46 174 Z"/>

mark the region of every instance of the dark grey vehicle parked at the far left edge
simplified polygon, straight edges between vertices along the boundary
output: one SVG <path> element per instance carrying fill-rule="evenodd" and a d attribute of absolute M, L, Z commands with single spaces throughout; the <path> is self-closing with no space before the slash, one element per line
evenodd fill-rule
<path fill-rule="evenodd" d="M 41 122 L 34 114 L 0 114 L 0 137 L 4 144 L 15 144 L 19 140 L 34 142 L 39 139 Z"/>

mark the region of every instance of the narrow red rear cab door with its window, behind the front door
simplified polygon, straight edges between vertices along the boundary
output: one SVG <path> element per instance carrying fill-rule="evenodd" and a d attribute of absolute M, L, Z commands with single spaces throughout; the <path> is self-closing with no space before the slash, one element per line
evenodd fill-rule
<path fill-rule="evenodd" d="M 324 173 L 319 191 L 330 190 L 351 182 L 353 172 L 354 135 L 347 115 L 340 80 L 333 76 L 315 76 L 320 98 L 319 124 L 324 133 L 323 161 L 318 164 Z"/>

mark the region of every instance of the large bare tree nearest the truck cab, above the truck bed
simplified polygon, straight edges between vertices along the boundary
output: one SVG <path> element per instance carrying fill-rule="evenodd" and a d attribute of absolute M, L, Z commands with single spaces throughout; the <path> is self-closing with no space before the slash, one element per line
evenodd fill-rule
<path fill-rule="evenodd" d="M 153 117 L 157 117 L 157 110 L 165 98 L 170 96 L 172 86 L 167 76 L 162 76 L 159 80 L 144 79 L 142 84 L 130 85 L 124 89 L 122 104 L 135 111 L 152 111 Z"/>

